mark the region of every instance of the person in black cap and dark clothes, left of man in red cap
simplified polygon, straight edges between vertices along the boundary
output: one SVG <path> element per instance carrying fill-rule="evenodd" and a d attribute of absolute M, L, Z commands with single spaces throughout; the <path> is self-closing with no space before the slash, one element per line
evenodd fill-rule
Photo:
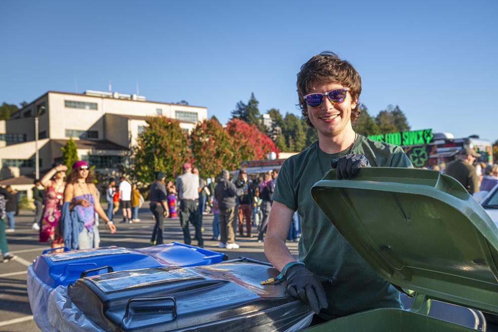
<path fill-rule="evenodd" d="M 164 186 L 164 177 L 164 173 L 157 172 L 156 181 L 150 186 L 150 211 L 155 219 L 152 238 L 150 239 L 152 245 L 164 243 L 164 218 L 168 218 L 170 215 L 166 187 Z"/>

